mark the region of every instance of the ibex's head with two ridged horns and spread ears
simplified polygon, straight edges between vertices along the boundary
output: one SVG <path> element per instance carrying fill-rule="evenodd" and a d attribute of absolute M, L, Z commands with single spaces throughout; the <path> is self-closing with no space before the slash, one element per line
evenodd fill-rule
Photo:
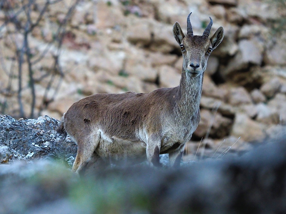
<path fill-rule="evenodd" d="M 202 36 L 194 36 L 190 15 L 191 13 L 187 18 L 187 35 L 184 35 L 178 22 L 174 24 L 173 35 L 182 50 L 184 71 L 190 77 L 196 77 L 206 70 L 208 57 L 219 43 L 221 43 L 224 33 L 223 27 L 219 27 L 215 34 L 208 39 L 212 27 L 212 19 L 210 18 L 210 23 L 204 30 Z"/>

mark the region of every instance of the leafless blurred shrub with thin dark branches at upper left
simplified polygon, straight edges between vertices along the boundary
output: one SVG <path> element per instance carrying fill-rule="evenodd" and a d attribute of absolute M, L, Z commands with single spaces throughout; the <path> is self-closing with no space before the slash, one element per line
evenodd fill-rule
<path fill-rule="evenodd" d="M 11 5 L 9 5 L 9 1 L 8 0 L 3 0 L 5 2 L 7 2 L 7 7 L 4 10 L 4 15 L 5 15 L 5 22 L 3 25 L 0 26 L 0 32 L 3 29 L 3 27 L 6 26 L 6 29 L 8 31 L 7 32 L 7 36 L 5 36 L 5 38 L 7 39 L 11 39 L 12 43 L 9 42 L 9 44 L 13 44 L 15 45 L 15 59 L 17 61 L 17 72 L 18 72 L 18 85 L 17 85 L 17 100 L 18 100 L 18 104 L 19 104 L 19 117 L 25 117 L 25 111 L 23 108 L 23 98 L 22 98 L 22 91 L 23 89 L 25 89 L 26 87 L 31 88 L 31 112 L 29 113 L 29 117 L 33 118 L 35 116 L 35 101 L 36 101 L 36 92 L 35 92 L 35 83 L 36 81 L 42 81 L 44 78 L 46 77 L 50 77 L 48 84 L 45 88 L 45 92 L 44 92 L 44 97 L 42 100 L 42 104 L 41 104 L 41 108 L 39 110 L 39 114 L 40 112 L 47 107 L 47 105 L 49 104 L 49 102 L 51 102 L 52 100 L 54 100 L 60 84 L 62 82 L 63 79 L 63 72 L 61 69 L 61 66 L 59 64 L 59 57 L 61 54 L 61 47 L 62 47 L 62 43 L 63 43 L 63 38 L 65 35 L 65 31 L 66 31 L 66 27 L 67 27 L 67 23 L 72 15 L 72 12 L 74 11 L 74 8 L 76 7 L 76 5 L 78 4 L 78 2 L 80 0 L 75 0 L 74 3 L 68 7 L 67 9 L 67 13 L 65 15 L 65 18 L 63 19 L 63 21 L 61 23 L 59 23 L 56 34 L 53 37 L 53 40 L 51 42 L 49 42 L 47 44 L 47 47 L 44 49 L 44 51 L 41 51 L 41 53 L 37 54 L 37 58 L 33 59 L 32 56 L 32 51 L 31 51 L 31 46 L 30 46 L 30 42 L 29 42 L 29 38 L 30 35 L 33 31 L 33 29 L 35 27 L 37 27 L 40 23 L 40 21 L 43 19 L 44 15 L 49 11 L 48 8 L 50 5 L 56 4 L 60 1 L 63 0 L 45 0 L 43 7 L 41 7 L 41 9 L 39 9 L 38 5 L 37 5 L 37 0 L 21 0 L 17 3 L 17 7 L 13 8 Z M 39 9 L 39 14 L 38 16 L 35 18 L 35 21 L 32 20 L 32 9 Z M 21 15 L 21 19 L 19 18 L 19 15 Z M 49 16 L 47 16 L 49 17 Z M 15 27 L 16 32 L 9 31 L 8 28 L 8 24 L 12 24 L 13 27 Z M 21 44 L 19 44 L 19 40 L 17 40 L 16 36 L 17 35 L 23 35 L 23 41 L 21 41 Z M 2 35 L 1 35 L 2 36 Z M 45 55 L 48 53 L 50 47 L 52 45 L 55 45 L 57 47 L 55 56 L 54 56 L 54 63 L 52 64 L 52 72 L 50 72 L 49 70 L 46 71 L 45 74 L 41 75 L 40 78 L 37 78 L 35 80 L 34 77 L 34 70 L 33 70 L 33 66 L 40 62 Z M 5 88 L 5 91 L 7 92 L 6 94 L 13 94 L 12 91 L 12 87 L 11 87 L 11 81 L 12 81 L 12 76 L 15 73 L 13 70 L 10 70 L 10 72 L 8 72 L 7 70 L 7 66 L 5 65 L 5 60 L 3 60 L 4 56 L 2 53 L 0 53 L 0 62 L 1 62 L 1 66 L 3 67 L 4 72 L 7 74 L 7 76 L 9 76 L 9 82 L 7 87 Z M 25 73 L 23 73 L 23 66 L 24 63 L 27 63 L 27 67 L 28 67 L 28 77 L 29 77 L 29 83 L 28 86 L 26 86 L 26 84 L 23 84 L 23 75 Z M 14 63 L 15 64 L 15 63 Z M 15 66 L 11 65 L 11 69 L 13 69 Z M 59 78 L 56 78 L 57 74 L 60 75 Z M 55 82 L 57 80 L 57 82 Z M 48 97 L 48 93 L 51 89 L 51 87 L 55 84 L 55 90 L 50 98 L 50 100 L 47 99 Z M 2 91 L 2 90 L 0 90 Z M 5 100 L 7 100 L 7 96 L 5 97 Z M 1 107 L 1 112 L 4 112 L 6 109 L 6 102 L 4 102 L 4 105 L 2 105 Z"/>

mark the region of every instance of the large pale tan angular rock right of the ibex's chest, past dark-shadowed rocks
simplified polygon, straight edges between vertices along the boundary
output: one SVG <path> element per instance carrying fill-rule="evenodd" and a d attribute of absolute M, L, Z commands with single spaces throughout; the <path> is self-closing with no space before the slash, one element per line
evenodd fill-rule
<path fill-rule="evenodd" d="M 237 113 L 233 122 L 231 135 L 247 142 L 261 141 L 266 137 L 265 125 L 251 120 L 246 114 Z"/>

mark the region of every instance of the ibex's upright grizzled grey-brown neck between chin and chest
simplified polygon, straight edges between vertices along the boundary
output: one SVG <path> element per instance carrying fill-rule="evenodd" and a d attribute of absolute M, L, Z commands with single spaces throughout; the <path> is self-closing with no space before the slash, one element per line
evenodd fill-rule
<path fill-rule="evenodd" d="M 184 70 L 183 70 L 184 71 Z M 192 115 L 197 114 L 200 108 L 200 98 L 202 95 L 202 81 L 204 73 L 191 78 L 186 72 L 182 72 L 178 97 L 175 105 L 175 112 L 181 120 L 190 120 Z"/>

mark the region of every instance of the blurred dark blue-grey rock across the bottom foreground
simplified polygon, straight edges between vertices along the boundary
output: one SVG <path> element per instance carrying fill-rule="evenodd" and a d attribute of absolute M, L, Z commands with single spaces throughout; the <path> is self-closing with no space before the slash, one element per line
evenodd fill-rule
<path fill-rule="evenodd" d="M 146 165 L 78 177 L 55 161 L 0 165 L 1 214 L 286 213 L 286 140 L 180 169 Z"/>

